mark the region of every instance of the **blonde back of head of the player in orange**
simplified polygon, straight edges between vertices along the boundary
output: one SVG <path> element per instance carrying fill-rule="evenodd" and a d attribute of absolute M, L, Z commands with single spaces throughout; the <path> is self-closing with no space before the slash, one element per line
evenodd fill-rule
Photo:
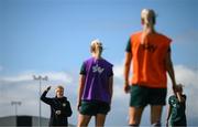
<path fill-rule="evenodd" d="M 152 9 L 143 9 L 141 12 L 141 20 L 145 25 L 154 25 L 156 22 L 155 11 Z"/>

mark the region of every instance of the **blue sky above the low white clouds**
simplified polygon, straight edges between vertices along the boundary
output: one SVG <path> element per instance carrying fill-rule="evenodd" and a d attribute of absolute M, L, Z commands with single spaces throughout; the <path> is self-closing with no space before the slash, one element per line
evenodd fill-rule
<path fill-rule="evenodd" d="M 12 78 L 12 84 L 19 84 L 18 80 L 25 74 L 48 74 L 54 81 L 76 85 L 81 62 L 90 56 L 89 44 L 94 39 L 103 42 L 103 56 L 120 73 L 127 41 L 131 33 L 141 30 L 140 12 L 144 8 L 156 11 L 156 30 L 173 40 L 177 72 L 187 70 L 195 76 L 191 81 L 196 81 L 197 0 L 0 0 L 0 88 L 8 91 L 12 86 L 7 81 Z M 72 80 L 63 80 L 62 74 Z M 121 75 L 116 75 L 116 84 L 122 87 Z M 197 88 L 196 83 L 182 77 L 178 81 Z M 31 82 L 28 80 L 23 84 Z M 75 88 L 72 95 L 76 94 Z M 75 97 L 72 97 L 74 103 Z"/>

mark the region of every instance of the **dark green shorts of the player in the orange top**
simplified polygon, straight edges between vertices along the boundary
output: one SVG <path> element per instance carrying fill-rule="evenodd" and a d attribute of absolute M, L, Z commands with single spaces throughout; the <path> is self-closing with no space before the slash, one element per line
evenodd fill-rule
<path fill-rule="evenodd" d="M 131 86 L 131 107 L 145 107 L 146 105 L 165 105 L 167 88 L 150 88 L 139 85 Z"/>

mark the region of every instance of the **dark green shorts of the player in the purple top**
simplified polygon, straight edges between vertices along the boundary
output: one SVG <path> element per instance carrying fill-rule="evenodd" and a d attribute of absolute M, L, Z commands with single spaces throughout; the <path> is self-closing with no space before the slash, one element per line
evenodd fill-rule
<path fill-rule="evenodd" d="M 82 100 L 79 113 L 81 115 L 96 116 L 97 114 L 107 115 L 110 110 L 110 105 L 99 100 Z"/>

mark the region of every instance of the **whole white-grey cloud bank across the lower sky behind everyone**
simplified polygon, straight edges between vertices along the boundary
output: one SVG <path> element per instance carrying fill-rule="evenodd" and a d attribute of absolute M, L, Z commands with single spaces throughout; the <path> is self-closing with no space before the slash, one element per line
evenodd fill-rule
<path fill-rule="evenodd" d="M 128 107 L 130 95 L 123 92 L 123 74 L 122 64 L 114 66 L 114 92 L 111 112 L 108 115 L 107 125 L 127 125 L 128 119 Z M 14 108 L 11 106 L 11 100 L 22 100 L 22 105 L 19 107 L 19 115 L 37 115 L 38 114 L 38 85 L 33 81 L 32 74 L 38 75 L 38 73 L 22 73 L 15 76 L 1 76 L 0 80 L 4 80 L 3 84 L 0 84 L 0 116 L 14 114 Z M 198 118 L 198 71 L 188 68 L 184 65 L 175 66 L 175 74 L 177 83 L 185 85 L 184 93 L 187 95 L 187 118 L 188 120 Z M 53 81 L 69 82 L 66 86 L 65 94 L 68 96 L 74 116 L 70 118 L 73 124 L 77 123 L 77 110 L 76 110 L 76 97 L 77 97 L 77 84 L 78 75 L 73 75 L 64 72 L 47 72 L 41 73 L 40 75 L 47 75 L 50 83 Z M 7 77 L 7 78 L 6 78 Z M 20 77 L 20 78 L 19 78 Z M 74 84 L 74 85 L 73 85 Z M 76 84 L 76 85 L 75 85 Z M 43 83 L 42 86 L 45 88 L 47 83 Z M 170 82 L 168 78 L 168 96 L 172 94 Z M 47 96 L 54 96 L 54 91 L 50 91 Z M 166 116 L 166 108 L 163 112 L 163 124 Z M 42 103 L 42 114 L 45 117 L 50 116 L 50 108 L 47 105 Z M 118 115 L 120 117 L 118 117 Z M 146 107 L 142 116 L 142 125 L 150 124 L 147 117 L 150 117 L 150 108 Z M 113 121 L 111 121 L 113 119 Z M 189 123 L 190 124 L 190 123 Z"/>

